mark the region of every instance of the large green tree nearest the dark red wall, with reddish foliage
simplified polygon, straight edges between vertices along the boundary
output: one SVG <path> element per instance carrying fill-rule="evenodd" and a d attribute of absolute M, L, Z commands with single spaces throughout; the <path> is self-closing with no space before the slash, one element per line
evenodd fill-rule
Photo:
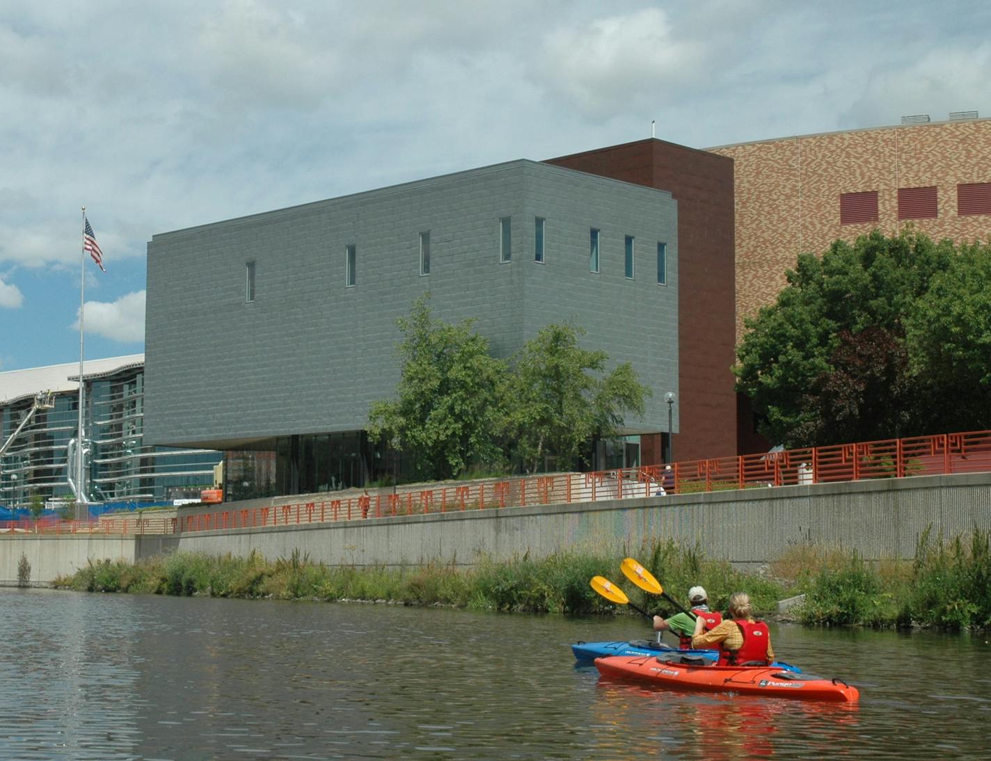
<path fill-rule="evenodd" d="M 788 447 L 933 432 L 905 326 L 957 259 L 949 241 L 913 231 L 800 255 L 737 347 L 736 388 L 760 432 Z"/>

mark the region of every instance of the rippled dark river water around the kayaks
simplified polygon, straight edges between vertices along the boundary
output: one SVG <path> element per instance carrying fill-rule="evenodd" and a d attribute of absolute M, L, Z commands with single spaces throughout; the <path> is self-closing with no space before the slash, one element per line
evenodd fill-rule
<path fill-rule="evenodd" d="M 772 626 L 854 706 L 600 681 L 633 618 L 0 590 L 0 758 L 987 758 L 984 638 Z"/>

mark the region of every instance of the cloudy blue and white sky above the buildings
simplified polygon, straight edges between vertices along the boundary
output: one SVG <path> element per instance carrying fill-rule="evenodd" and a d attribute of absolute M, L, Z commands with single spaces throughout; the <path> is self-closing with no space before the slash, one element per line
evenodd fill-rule
<path fill-rule="evenodd" d="M 991 3 L 0 0 L 0 372 L 144 351 L 152 236 L 515 159 L 991 117 Z M 82 211 L 107 272 L 82 259 Z"/>

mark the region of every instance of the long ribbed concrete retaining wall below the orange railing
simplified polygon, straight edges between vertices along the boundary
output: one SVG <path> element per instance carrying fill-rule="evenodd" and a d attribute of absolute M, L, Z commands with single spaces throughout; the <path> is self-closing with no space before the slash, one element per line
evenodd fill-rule
<path fill-rule="evenodd" d="M 427 561 L 471 565 L 565 549 L 636 551 L 655 537 L 699 542 L 706 554 L 760 565 L 789 547 L 856 550 L 867 559 L 912 558 L 920 534 L 991 530 L 991 474 L 933 476 L 781 489 L 467 510 L 333 524 L 290 525 L 175 537 L 0 536 L 0 583 L 17 580 L 22 552 L 32 582 L 72 573 L 87 559 L 134 560 L 176 547 L 188 552 L 289 557 L 293 550 L 331 565 Z"/>

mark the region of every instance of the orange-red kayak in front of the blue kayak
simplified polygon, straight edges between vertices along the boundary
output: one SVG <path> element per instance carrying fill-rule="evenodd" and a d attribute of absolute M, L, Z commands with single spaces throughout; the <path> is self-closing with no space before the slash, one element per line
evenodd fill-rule
<path fill-rule="evenodd" d="M 856 703 L 860 693 L 839 679 L 795 674 L 774 666 L 707 666 L 679 663 L 681 658 L 616 655 L 597 658 L 596 668 L 606 677 L 647 682 L 675 690 L 740 693 L 769 698 Z"/>

